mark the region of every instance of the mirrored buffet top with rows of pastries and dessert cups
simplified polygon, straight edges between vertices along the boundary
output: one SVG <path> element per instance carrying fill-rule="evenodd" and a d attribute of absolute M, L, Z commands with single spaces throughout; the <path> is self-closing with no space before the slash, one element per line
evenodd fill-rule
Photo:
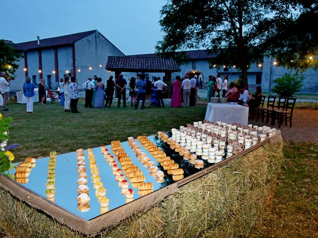
<path fill-rule="evenodd" d="M 26 158 L 12 173 L 26 188 L 90 220 L 236 155 L 275 132 L 267 126 L 197 121 L 154 136 L 128 137 L 126 142 L 63 155 L 51 152 L 38 160 Z"/>

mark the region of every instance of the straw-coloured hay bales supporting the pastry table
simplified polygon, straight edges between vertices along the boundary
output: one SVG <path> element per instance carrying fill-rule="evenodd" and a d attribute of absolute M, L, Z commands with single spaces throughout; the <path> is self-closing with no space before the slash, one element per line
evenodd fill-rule
<path fill-rule="evenodd" d="M 283 164 L 282 143 L 266 144 L 191 181 L 150 210 L 95 236 L 239 237 L 262 217 Z M 82 237 L 0 190 L 0 235 Z"/>

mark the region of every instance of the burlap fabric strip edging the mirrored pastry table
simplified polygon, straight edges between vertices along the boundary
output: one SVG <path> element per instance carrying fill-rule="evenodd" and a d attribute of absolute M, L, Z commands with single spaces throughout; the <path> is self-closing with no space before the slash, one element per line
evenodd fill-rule
<path fill-rule="evenodd" d="M 157 191 L 154 191 L 144 197 L 141 197 L 135 201 L 132 201 L 124 206 L 121 206 L 117 209 L 109 211 L 103 215 L 100 215 L 92 220 L 86 221 L 78 216 L 64 210 L 63 208 L 56 205 L 54 202 L 51 202 L 36 193 L 30 191 L 29 189 L 25 188 L 24 186 L 20 185 L 19 183 L 15 182 L 12 179 L 9 179 L 5 176 L 0 176 L 0 186 L 5 190 L 9 191 L 13 196 L 19 198 L 20 200 L 28 203 L 34 208 L 40 209 L 47 213 L 48 215 L 52 216 L 54 219 L 59 221 L 62 224 L 69 226 L 74 230 L 78 230 L 84 234 L 94 234 L 97 231 L 103 228 L 110 228 L 118 225 L 122 221 L 126 220 L 127 218 L 148 210 L 155 204 L 162 201 L 166 196 L 175 193 L 178 190 L 178 187 L 184 185 L 187 182 L 190 182 L 194 179 L 200 178 L 211 171 L 216 170 L 217 168 L 229 163 L 230 161 L 241 157 L 248 152 L 257 149 L 258 147 L 262 146 L 265 143 L 281 143 L 283 142 L 282 136 L 280 131 L 277 131 L 276 134 L 261 142 L 251 148 L 240 152 L 239 154 L 232 156 L 222 162 L 212 165 L 205 170 L 202 170 L 194 175 L 191 175 L 185 179 L 179 180 L 171 185 L 163 187 Z"/>

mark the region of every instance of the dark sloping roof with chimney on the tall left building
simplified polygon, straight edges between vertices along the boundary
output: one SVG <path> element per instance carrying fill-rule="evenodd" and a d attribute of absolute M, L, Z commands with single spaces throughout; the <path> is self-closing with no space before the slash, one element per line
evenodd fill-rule
<path fill-rule="evenodd" d="M 39 48 L 52 47 L 52 46 L 70 45 L 81 40 L 82 38 L 86 36 L 89 36 L 90 34 L 93 34 L 95 31 L 96 30 L 85 31 L 85 32 L 71 34 L 71 35 L 40 39 L 39 46 L 37 45 L 37 40 L 17 43 L 16 45 L 26 50 L 39 49 Z"/>

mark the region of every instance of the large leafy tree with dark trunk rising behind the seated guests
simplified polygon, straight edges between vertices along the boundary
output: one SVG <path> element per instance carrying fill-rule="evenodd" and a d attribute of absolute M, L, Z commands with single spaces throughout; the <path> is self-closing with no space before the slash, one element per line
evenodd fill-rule
<path fill-rule="evenodd" d="M 248 88 L 248 66 L 262 62 L 265 53 L 277 53 L 270 51 L 277 47 L 274 39 L 284 39 L 277 31 L 284 23 L 291 26 L 298 19 L 299 10 L 305 9 L 301 7 L 303 1 L 168 0 L 161 9 L 159 23 L 164 36 L 157 52 L 180 59 L 184 54 L 178 51 L 208 49 L 216 53 L 215 64 L 236 65 Z M 286 44 L 280 49 L 283 46 Z"/>

